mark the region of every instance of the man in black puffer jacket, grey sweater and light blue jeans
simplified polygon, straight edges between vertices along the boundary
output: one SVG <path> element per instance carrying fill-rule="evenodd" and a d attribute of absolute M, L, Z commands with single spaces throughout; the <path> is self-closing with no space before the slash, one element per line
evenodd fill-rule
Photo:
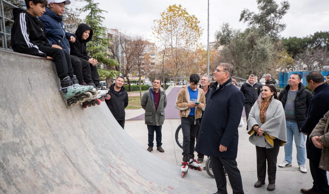
<path fill-rule="evenodd" d="M 285 160 L 279 164 L 279 167 L 291 166 L 292 141 L 295 139 L 299 170 L 302 173 L 306 173 L 306 135 L 301 133 L 301 127 L 306 120 L 306 111 L 313 95 L 305 89 L 305 86 L 300 81 L 301 76 L 299 74 L 291 74 L 289 84 L 279 95 L 279 100 L 282 102 L 285 110 L 287 127 L 287 143 L 284 145 Z"/>

